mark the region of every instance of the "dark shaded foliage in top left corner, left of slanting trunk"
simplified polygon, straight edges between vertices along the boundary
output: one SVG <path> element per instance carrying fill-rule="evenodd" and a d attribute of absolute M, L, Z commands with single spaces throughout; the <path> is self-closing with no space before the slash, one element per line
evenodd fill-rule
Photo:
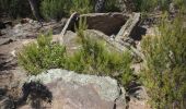
<path fill-rule="evenodd" d="M 31 13 L 27 0 L 0 0 L 0 10 L 10 17 L 26 16 Z"/>

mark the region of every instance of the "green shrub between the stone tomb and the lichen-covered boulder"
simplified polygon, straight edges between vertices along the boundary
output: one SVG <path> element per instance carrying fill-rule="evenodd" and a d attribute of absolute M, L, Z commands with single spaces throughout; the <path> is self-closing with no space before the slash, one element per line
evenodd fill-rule
<path fill-rule="evenodd" d="M 129 51 L 119 53 L 111 51 L 106 44 L 97 40 L 84 33 L 86 29 L 86 19 L 80 19 L 77 28 L 78 36 L 81 39 L 82 48 L 70 57 L 70 70 L 80 73 L 109 75 L 119 74 L 120 83 L 128 86 L 133 80 L 130 69 L 132 57 Z"/>

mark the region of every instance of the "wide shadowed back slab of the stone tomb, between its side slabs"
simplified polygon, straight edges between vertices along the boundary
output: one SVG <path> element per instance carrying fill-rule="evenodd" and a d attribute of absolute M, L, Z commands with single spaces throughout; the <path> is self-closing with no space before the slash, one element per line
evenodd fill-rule
<path fill-rule="evenodd" d="M 128 15 L 123 13 L 91 13 L 80 17 L 86 17 L 89 29 L 101 31 L 106 35 L 116 35 L 128 20 Z"/>

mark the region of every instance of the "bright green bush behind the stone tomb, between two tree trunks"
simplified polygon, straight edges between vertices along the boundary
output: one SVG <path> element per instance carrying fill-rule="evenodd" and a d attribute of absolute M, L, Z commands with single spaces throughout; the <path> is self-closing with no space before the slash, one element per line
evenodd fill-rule
<path fill-rule="evenodd" d="M 89 13 L 93 11 L 91 0 L 43 0 L 40 12 L 47 20 L 61 19 L 71 12 Z"/>

